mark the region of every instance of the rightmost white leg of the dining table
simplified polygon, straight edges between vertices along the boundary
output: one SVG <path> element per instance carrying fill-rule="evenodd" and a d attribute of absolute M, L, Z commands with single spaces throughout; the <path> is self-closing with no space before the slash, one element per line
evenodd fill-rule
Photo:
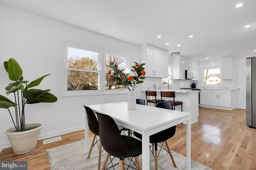
<path fill-rule="evenodd" d="M 191 116 L 187 120 L 187 159 L 186 170 L 191 170 Z"/>

